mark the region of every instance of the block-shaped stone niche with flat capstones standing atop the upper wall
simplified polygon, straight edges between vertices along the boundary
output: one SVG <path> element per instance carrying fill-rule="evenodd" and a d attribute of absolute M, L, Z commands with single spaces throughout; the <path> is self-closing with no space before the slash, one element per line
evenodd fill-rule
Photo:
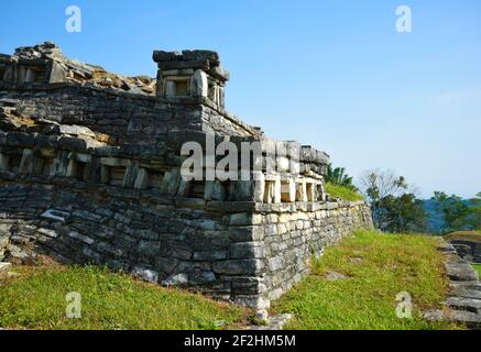
<path fill-rule="evenodd" d="M 219 55 L 210 51 L 155 51 L 157 96 L 205 98 L 225 108 L 225 85 L 229 73 L 220 67 Z"/>

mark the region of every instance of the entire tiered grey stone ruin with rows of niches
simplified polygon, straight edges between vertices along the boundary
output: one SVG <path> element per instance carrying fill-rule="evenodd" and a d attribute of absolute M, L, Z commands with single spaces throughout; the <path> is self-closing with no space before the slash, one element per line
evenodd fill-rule
<path fill-rule="evenodd" d="M 225 110 L 217 53 L 153 59 L 156 79 L 110 74 L 53 43 L 0 55 L 0 261 L 47 254 L 266 308 L 313 255 L 372 227 L 365 204 L 326 195 L 326 153 Z M 206 148 L 207 135 L 239 151 L 260 142 L 260 177 L 185 180 L 182 145 Z M 291 152 L 272 158 L 272 145 Z"/>

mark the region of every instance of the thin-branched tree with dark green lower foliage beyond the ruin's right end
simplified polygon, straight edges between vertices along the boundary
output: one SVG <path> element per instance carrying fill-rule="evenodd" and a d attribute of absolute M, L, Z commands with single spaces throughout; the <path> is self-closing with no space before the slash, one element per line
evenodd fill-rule
<path fill-rule="evenodd" d="M 403 176 L 392 170 L 371 169 L 360 178 L 374 224 L 386 232 L 423 232 L 426 211 Z"/>

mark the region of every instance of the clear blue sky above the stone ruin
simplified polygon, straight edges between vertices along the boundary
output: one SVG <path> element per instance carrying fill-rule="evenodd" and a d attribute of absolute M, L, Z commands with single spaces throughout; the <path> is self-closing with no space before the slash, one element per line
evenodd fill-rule
<path fill-rule="evenodd" d="M 65 31 L 79 6 L 81 33 Z M 413 32 L 395 30 L 398 6 Z M 210 48 L 228 110 L 331 155 L 353 176 L 391 168 L 420 196 L 481 191 L 481 1 L 7 1 L 0 52 L 46 40 L 122 74 L 152 51 Z"/>

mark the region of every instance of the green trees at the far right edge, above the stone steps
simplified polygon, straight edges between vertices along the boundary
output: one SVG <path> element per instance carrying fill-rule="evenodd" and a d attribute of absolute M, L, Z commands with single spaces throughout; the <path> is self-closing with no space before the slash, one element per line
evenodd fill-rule
<path fill-rule="evenodd" d="M 431 198 L 444 216 L 445 232 L 481 229 L 481 193 L 464 200 L 456 195 L 435 191 Z"/>

